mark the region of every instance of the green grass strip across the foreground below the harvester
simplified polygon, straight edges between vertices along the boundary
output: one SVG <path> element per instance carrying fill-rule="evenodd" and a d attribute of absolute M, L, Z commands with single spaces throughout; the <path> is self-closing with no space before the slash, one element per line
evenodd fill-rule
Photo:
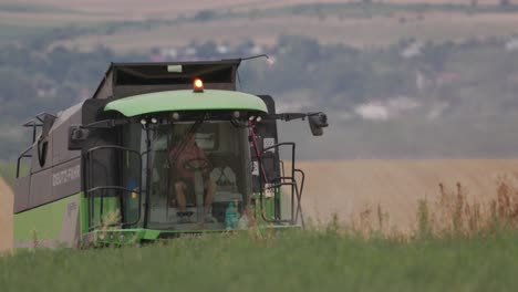
<path fill-rule="evenodd" d="M 518 233 L 369 240 L 325 231 L 35 250 L 0 258 L 2 291 L 512 291 Z"/>

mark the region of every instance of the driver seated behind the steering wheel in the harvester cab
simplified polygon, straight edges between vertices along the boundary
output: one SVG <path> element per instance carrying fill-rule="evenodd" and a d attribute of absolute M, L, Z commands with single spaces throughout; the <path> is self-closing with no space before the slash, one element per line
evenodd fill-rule
<path fill-rule="evenodd" d="M 210 179 L 211 164 L 204 150 L 196 145 L 195 133 L 186 133 L 185 143 L 175 146 L 169 152 L 169 161 L 173 161 L 172 190 L 176 194 L 178 215 L 188 216 L 186 210 L 187 196 L 195 196 L 195 173 L 203 177 L 205 199 L 204 211 L 206 220 L 213 221 L 210 207 L 213 205 L 216 184 Z M 198 182 L 199 184 L 199 182 Z M 174 202 L 173 202 L 174 204 Z"/>

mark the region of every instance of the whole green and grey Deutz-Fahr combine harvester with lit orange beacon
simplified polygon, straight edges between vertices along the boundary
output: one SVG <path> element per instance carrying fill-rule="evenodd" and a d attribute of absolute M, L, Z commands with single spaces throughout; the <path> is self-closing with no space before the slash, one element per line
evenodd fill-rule
<path fill-rule="evenodd" d="M 113 63 L 92 98 L 24 124 L 33 143 L 18 158 L 14 246 L 303 226 L 303 171 L 294 143 L 278 142 L 277 121 L 307 118 L 322 135 L 327 116 L 279 114 L 270 96 L 236 91 L 240 61 Z"/>

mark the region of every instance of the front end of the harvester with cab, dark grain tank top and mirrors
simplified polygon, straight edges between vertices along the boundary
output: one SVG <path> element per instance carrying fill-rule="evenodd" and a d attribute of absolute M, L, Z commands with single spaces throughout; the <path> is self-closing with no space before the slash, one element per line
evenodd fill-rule
<path fill-rule="evenodd" d="M 225 230 L 227 209 L 229 218 L 260 216 L 279 225 L 301 218 L 303 225 L 303 173 L 294 168 L 294 144 L 278 143 L 276 121 L 307 117 L 312 134 L 322 135 L 325 115 L 278 114 L 271 96 L 237 92 L 239 62 L 108 70 L 82 106 L 82 124 L 69 131 L 69 149 L 82 154 L 90 231 Z M 292 153 L 286 174 L 280 147 Z M 291 189 L 289 219 L 280 211 L 284 186 Z M 110 213 L 118 218 L 106 220 Z"/>

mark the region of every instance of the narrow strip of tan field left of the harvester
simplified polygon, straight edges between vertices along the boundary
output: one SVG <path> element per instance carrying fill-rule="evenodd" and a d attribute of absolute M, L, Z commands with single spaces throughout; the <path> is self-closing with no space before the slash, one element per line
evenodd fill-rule
<path fill-rule="evenodd" d="M 0 253 L 12 248 L 12 191 L 0 178 Z"/>

